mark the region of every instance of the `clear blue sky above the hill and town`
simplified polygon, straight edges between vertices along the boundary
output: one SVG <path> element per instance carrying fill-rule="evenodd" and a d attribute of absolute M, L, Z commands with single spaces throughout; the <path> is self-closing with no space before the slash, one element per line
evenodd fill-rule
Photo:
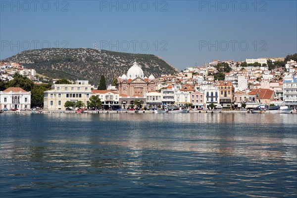
<path fill-rule="evenodd" d="M 26 49 L 149 53 L 179 69 L 297 52 L 296 0 L 0 1 L 0 59 Z"/>

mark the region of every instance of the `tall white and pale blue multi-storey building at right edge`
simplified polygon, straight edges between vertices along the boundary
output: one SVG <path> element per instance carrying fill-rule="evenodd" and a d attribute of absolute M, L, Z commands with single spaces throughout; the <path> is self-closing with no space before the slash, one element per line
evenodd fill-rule
<path fill-rule="evenodd" d="M 283 80 L 284 104 L 297 107 L 297 74 L 287 75 Z"/>

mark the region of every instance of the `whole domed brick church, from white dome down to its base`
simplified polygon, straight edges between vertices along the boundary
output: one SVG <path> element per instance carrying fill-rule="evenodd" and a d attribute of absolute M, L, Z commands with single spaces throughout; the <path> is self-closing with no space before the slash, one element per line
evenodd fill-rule
<path fill-rule="evenodd" d="M 146 95 L 148 92 L 156 90 L 156 80 L 153 75 L 144 77 L 144 72 L 137 62 L 127 72 L 118 77 L 117 89 L 120 94 L 120 105 L 129 107 L 134 99 L 140 99 L 146 106 Z"/>

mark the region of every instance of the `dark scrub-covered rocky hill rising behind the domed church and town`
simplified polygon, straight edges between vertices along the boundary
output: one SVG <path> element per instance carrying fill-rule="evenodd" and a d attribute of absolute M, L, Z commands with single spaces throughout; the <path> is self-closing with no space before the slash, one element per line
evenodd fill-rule
<path fill-rule="evenodd" d="M 177 70 L 161 58 L 151 54 L 133 54 L 100 49 L 34 49 L 27 50 L 2 61 L 17 62 L 36 69 L 37 73 L 49 78 L 89 80 L 97 85 L 100 75 L 108 83 L 114 77 L 126 74 L 137 61 L 145 76 L 176 73 Z"/>

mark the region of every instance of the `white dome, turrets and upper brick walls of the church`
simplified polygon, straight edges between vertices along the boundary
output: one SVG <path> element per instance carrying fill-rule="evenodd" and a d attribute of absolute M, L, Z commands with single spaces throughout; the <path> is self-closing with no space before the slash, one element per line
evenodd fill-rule
<path fill-rule="evenodd" d="M 118 92 L 127 96 L 142 95 L 146 96 L 147 92 L 155 91 L 156 82 L 153 75 L 144 77 L 144 72 L 136 62 L 127 72 L 118 77 Z"/>

